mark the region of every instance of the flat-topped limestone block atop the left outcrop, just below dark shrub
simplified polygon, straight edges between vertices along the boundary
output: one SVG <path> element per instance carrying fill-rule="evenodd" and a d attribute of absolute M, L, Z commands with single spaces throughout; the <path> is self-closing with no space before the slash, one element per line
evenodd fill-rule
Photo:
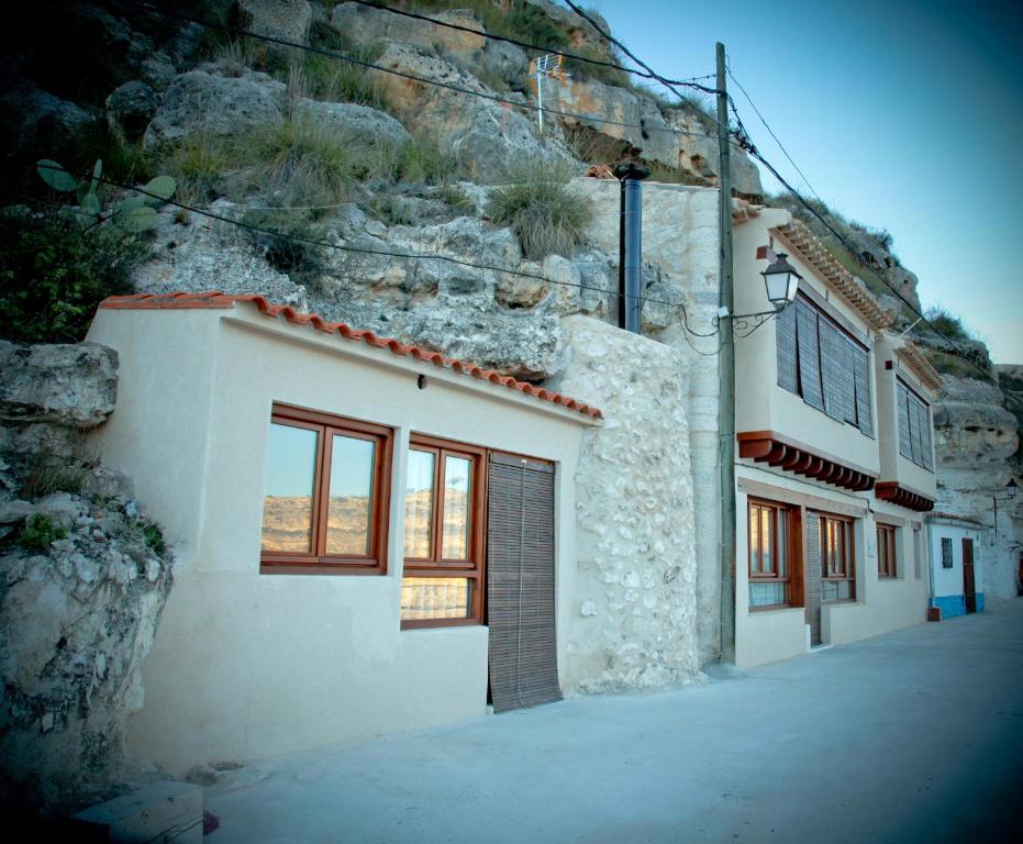
<path fill-rule="evenodd" d="M 118 353 L 96 343 L 0 341 L 0 420 L 94 427 L 113 412 Z"/>

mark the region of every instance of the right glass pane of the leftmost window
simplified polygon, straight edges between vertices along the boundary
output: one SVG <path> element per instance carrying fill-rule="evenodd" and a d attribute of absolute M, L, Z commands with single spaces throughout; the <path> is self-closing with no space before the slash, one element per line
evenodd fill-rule
<path fill-rule="evenodd" d="M 326 553 L 369 555 L 376 443 L 334 434 L 326 517 Z"/>

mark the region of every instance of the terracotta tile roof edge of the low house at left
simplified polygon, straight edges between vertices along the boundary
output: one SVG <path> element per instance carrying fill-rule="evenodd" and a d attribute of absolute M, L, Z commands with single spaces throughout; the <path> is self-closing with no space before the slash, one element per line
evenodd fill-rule
<path fill-rule="evenodd" d="M 481 366 L 470 364 L 465 360 L 445 357 L 440 352 L 431 352 L 415 345 L 402 343 L 396 337 L 380 337 L 371 331 L 353 329 L 344 322 L 327 322 L 315 313 L 303 313 L 296 311 L 290 304 L 275 304 L 266 297 L 257 295 L 229 295 L 220 290 L 213 290 L 205 293 L 133 293 L 131 296 L 111 296 L 100 302 L 100 308 L 104 310 L 188 310 L 199 308 L 233 308 L 238 302 L 245 302 L 255 307 L 262 314 L 270 319 L 283 316 L 293 325 L 312 325 L 316 331 L 327 334 L 337 334 L 344 340 L 352 342 L 362 342 L 374 348 L 386 348 L 391 354 L 399 357 L 413 357 L 416 360 L 424 360 L 434 366 L 451 369 L 460 375 L 471 376 L 480 380 L 490 381 L 498 387 L 507 387 L 511 390 L 547 401 L 553 404 L 574 410 L 583 417 L 591 419 L 603 419 L 603 413 L 599 408 L 590 407 L 576 399 L 561 396 L 558 392 L 552 392 L 545 388 L 536 387 L 527 381 L 520 381 L 510 375 L 501 375 L 492 369 L 483 369 Z"/>

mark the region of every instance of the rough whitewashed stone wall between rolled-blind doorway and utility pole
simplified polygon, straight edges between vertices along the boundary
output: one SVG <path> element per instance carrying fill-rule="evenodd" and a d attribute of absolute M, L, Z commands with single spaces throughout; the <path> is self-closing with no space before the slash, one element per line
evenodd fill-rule
<path fill-rule="evenodd" d="M 563 320 L 552 387 L 596 404 L 576 474 L 579 606 L 568 691 L 699 681 L 697 562 L 685 364 L 675 349 L 586 316 Z"/>

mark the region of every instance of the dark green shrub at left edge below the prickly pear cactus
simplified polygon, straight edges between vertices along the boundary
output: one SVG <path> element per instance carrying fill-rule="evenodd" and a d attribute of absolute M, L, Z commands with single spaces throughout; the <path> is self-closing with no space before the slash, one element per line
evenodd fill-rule
<path fill-rule="evenodd" d="M 82 231 L 70 214 L 0 212 L 0 335 L 21 343 L 78 343 L 97 306 L 132 292 L 147 247 L 120 229 Z"/>

